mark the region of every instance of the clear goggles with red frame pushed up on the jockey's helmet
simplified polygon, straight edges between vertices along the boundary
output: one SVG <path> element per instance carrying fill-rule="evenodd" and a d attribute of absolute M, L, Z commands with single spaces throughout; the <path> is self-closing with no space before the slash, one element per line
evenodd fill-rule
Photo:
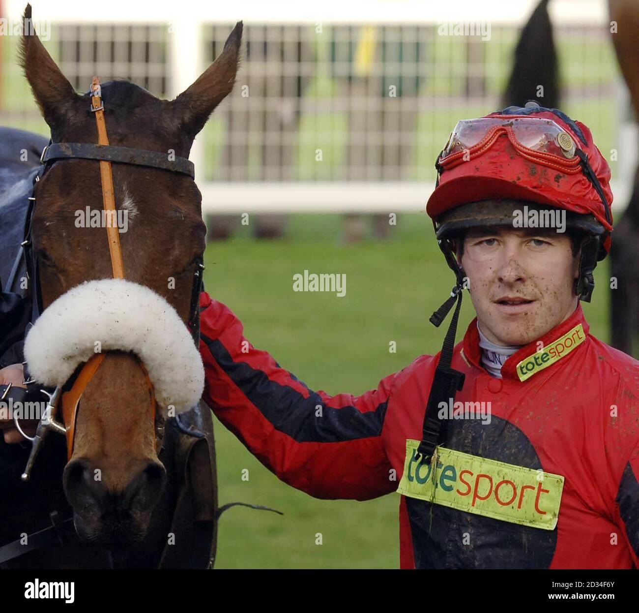
<path fill-rule="evenodd" d="M 573 137 L 551 119 L 528 116 L 463 119 L 450 134 L 437 165 L 454 168 L 481 155 L 506 136 L 518 153 L 534 163 L 567 174 L 581 171 L 579 147 Z"/>

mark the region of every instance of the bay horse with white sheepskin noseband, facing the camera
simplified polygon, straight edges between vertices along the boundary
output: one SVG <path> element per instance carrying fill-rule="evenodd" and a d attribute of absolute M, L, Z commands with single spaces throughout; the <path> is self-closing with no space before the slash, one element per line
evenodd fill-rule
<path fill-rule="evenodd" d="M 67 445 L 62 437 L 48 437 L 29 481 L 20 479 L 28 447 L 0 445 L 0 545 L 13 541 L 19 552 L 27 543 L 14 539 L 29 541 L 23 555 L 0 556 L 0 567 L 207 568 L 215 556 L 218 511 L 212 419 L 206 407 L 172 413 L 176 407 L 169 402 L 194 397 L 180 396 L 181 386 L 197 390 L 192 370 L 198 366 L 189 370 L 180 356 L 197 353 L 187 324 L 197 342 L 192 305 L 195 299 L 199 321 L 196 280 L 206 228 L 187 158 L 197 133 L 233 88 L 242 22 L 212 65 L 171 101 L 127 81 L 79 95 L 27 27 L 28 4 L 24 24 L 21 63 L 51 134 L 42 158 L 46 171 L 39 164 L 14 164 L 12 186 L 0 193 L 0 216 L 25 216 L 27 198 L 36 203 L 23 244 L 35 267 L 27 266 L 22 276 L 42 317 L 27 333 L 27 368 L 40 382 L 42 373 L 61 381 L 70 375 L 61 386 L 70 393 L 93 360 L 88 355 L 96 349 L 88 344 L 104 342 L 104 348 L 85 381 L 71 438 L 69 424 Z M 95 100 L 104 108 L 96 108 Z M 104 113 L 108 151 L 82 157 L 84 143 L 102 140 L 96 110 Z M 27 136 L 22 142 L 37 141 Z M 24 150 L 20 142 L 16 138 L 16 157 Z M 108 165 L 116 208 L 128 214 L 127 231 L 117 233 L 125 279 L 112 278 L 111 234 L 107 239 L 104 227 L 77 224 L 78 212 L 102 203 L 104 156 L 118 147 L 126 149 Z M 131 150 L 125 161 L 122 152 Z M 22 209 L 12 204 L 17 200 Z"/>

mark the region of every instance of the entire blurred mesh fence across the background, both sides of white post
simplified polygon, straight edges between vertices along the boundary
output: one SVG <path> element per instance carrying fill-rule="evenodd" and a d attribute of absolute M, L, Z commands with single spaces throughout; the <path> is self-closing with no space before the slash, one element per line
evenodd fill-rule
<path fill-rule="evenodd" d="M 200 72 L 233 25 L 194 25 Z M 442 35 L 438 24 L 246 24 L 236 88 L 194 161 L 215 182 L 432 181 L 454 123 L 498 108 L 520 26 L 494 24 L 482 40 Z M 167 97 L 180 70 L 171 36 L 169 24 L 54 23 L 46 46 L 81 92 L 99 74 Z M 568 23 L 554 36 L 562 109 L 592 127 L 605 153 L 620 116 L 610 34 L 604 24 Z M 17 65 L 17 37 L 0 45 L 0 122 L 45 134 Z"/>

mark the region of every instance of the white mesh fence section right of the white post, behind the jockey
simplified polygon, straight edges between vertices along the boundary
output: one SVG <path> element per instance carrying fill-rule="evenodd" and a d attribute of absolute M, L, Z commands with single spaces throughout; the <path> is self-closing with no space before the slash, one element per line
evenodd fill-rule
<path fill-rule="evenodd" d="M 233 24 L 205 35 L 207 61 Z M 499 107 L 519 35 L 442 36 L 438 26 L 245 27 L 236 89 L 204 134 L 217 180 L 432 180 L 459 118 Z M 562 107 L 610 145 L 617 67 L 604 28 L 561 26 Z M 540 99 L 543 104 L 543 99 Z"/>

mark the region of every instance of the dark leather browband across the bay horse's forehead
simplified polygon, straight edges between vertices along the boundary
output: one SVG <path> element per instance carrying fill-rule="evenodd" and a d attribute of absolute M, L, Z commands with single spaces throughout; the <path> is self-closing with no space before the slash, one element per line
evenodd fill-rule
<path fill-rule="evenodd" d="M 191 179 L 195 177 L 194 164 L 185 157 L 169 159 L 168 154 L 144 149 L 116 147 L 115 145 L 94 145 L 93 143 L 52 143 L 42 152 L 40 161 L 47 163 L 59 159 L 96 159 L 135 166 L 150 166 L 171 170 Z"/>

